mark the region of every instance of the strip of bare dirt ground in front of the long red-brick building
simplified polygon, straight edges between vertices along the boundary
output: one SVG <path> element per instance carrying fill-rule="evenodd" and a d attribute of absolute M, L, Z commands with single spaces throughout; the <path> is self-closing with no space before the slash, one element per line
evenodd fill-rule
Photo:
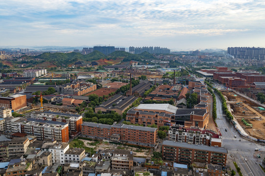
<path fill-rule="evenodd" d="M 111 144 L 108 143 L 106 141 L 100 141 L 99 144 L 97 144 L 96 146 L 94 145 L 90 145 L 91 143 L 94 143 L 95 141 L 89 141 L 89 140 L 84 140 L 84 139 L 79 139 L 81 141 L 84 142 L 85 146 L 90 147 L 90 148 L 94 148 L 95 150 L 105 150 L 105 149 L 109 149 L 109 150 L 115 150 L 115 149 L 125 149 L 125 150 L 129 150 L 129 151 L 133 151 L 133 155 L 134 156 L 151 156 L 151 151 L 152 149 L 138 149 L 135 147 L 129 147 L 129 146 L 124 146 L 124 145 L 117 145 L 117 144 Z"/>

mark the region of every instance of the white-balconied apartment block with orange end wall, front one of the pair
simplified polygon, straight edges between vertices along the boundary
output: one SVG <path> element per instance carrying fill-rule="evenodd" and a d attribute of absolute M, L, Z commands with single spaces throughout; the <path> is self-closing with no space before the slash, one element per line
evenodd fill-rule
<path fill-rule="evenodd" d="M 68 123 L 65 122 L 27 118 L 21 124 L 21 132 L 36 136 L 39 140 L 69 142 Z"/>

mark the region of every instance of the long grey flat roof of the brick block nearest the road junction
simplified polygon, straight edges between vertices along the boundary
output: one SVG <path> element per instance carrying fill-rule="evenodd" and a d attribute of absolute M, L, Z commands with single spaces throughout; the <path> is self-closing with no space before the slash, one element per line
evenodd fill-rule
<path fill-rule="evenodd" d="M 210 146 L 205 146 L 205 145 L 191 145 L 188 143 L 175 142 L 175 141 L 169 141 L 169 140 L 163 141 L 162 145 L 227 154 L 227 149 L 222 148 L 222 147 L 210 147 Z"/>

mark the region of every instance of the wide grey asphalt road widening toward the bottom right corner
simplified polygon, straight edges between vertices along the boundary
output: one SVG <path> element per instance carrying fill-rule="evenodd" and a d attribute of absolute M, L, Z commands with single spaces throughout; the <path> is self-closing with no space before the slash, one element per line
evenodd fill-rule
<path fill-rule="evenodd" d="M 217 119 L 216 123 L 222 134 L 222 145 L 228 150 L 228 153 L 233 156 L 238 166 L 241 168 L 243 176 L 265 176 L 265 173 L 260 168 L 259 164 L 265 154 L 265 146 L 256 144 L 255 142 L 246 140 L 236 132 L 234 126 L 226 119 L 223 114 L 221 100 L 216 94 L 217 99 Z M 225 129 L 227 132 L 225 132 Z M 236 135 L 236 137 L 234 137 Z M 239 141 L 241 139 L 241 141 Z M 262 158 L 257 158 L 255 148 L 259 148 L 263 153 Z M 246 161 L 245 161 L 246 159 Z"/>

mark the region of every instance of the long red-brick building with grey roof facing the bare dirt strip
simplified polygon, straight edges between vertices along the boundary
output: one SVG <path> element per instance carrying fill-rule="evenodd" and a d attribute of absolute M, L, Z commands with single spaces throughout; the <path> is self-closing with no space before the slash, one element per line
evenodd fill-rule
<path fill-rule="evenodd" d="M 157 142 L 157 129 L 125 124 L 104 125 L 84 122 L 82 136 L 154 147 Z"/>

